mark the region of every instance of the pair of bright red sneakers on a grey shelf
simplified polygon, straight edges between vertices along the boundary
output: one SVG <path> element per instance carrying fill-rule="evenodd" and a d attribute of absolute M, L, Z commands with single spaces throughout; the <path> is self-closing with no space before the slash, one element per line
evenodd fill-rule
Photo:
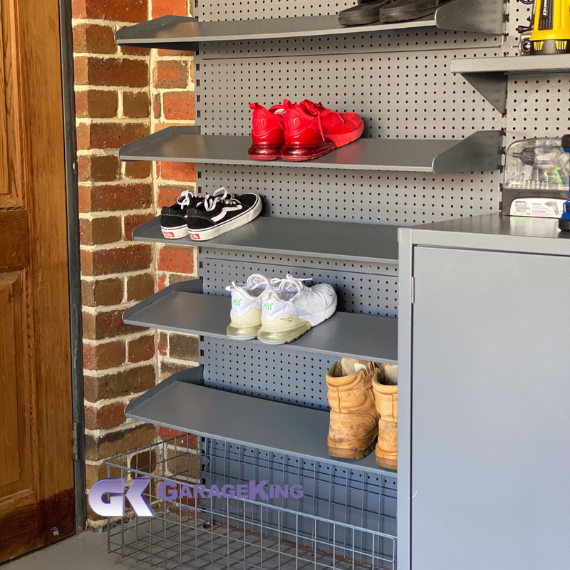
<path fill-rule="evenodd" d="M 299 104 L 285 99 L 269 109 L 250 103 L 249 108 L 254 111 L 252 160 L 311 160 L 348 145 L 364 130 L 356 113 L 336 113 L 309 99 Z"/>

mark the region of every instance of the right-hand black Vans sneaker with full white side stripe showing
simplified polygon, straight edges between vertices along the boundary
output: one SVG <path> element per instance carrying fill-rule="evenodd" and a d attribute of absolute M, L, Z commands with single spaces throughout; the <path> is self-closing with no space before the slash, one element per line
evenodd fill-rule
<path fill-rule="evenodd" d="M 234 196 L 224 187 L 218 188 L 199 206 L 188 209 L 188 233 L 196 242 L 221 236 L 257 218 L 261 205 L 257 194 Z"/>

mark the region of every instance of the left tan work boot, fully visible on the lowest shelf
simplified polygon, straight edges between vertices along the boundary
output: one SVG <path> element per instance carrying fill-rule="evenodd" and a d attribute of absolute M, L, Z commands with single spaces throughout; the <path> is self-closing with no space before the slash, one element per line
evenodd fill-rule
<path fill-rule="evenodd" d="M 331 415 L 328 453 L 333 457 L 360 459 L 374 448 L 378 437 L 378 413 L 374 405 L 372 362 L 341 358 L 326 375 Z"/>

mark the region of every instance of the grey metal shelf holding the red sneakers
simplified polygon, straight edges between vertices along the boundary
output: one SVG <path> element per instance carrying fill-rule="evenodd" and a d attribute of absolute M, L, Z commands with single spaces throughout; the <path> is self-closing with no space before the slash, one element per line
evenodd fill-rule
<path fill-rule="evenodd" d="M 499 130 L 482 130 L 464 139 L 361 138 L 328 155 L 304 162 L 250 160 L 252 139 L 197 135 L 196 127 L 169 127 L 121 147 L 120 160 L 168 160 L 250 167 L 341 168 L 450 174 L 497 170 L 501 166 Z"/>

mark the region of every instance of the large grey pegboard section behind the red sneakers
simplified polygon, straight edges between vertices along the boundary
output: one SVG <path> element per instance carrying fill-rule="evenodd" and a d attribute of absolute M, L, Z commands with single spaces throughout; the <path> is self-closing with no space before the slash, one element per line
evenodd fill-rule
<path fill-rule="evenodd" d="M 364 120 L 363 137 L 462 139 L 500 128 L 501 115 L 461 76 L 453 58 L 499 49 L 202 60 L 197 117 L 204 135 L 249 135 L 257 101 L 321 101 Z M 323 88 L 324 87 L 324 88 Z"/>

